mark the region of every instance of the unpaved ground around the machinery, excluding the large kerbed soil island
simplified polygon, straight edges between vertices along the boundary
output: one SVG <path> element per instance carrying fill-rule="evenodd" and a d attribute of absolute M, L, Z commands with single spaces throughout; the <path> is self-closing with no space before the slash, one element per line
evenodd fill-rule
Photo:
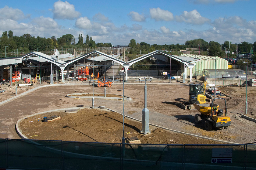
<path fill-rule="evenodd" d="M 153 82 L 152 82 L 153 83 Z M 147 84 L 147 108 L 150 112 L 150 123 L 162 127 L 174 129 L 191 134 L 202 135 L 209 138 L 220 139 L 235 143 L 250 143 L 256 139 L 256 123 L 247 121 L 241 117 L 245 108 L 245 95 L 234 93 L 233 88 L 240 88 L 237 91 L 245 91 L 245 87 L 227 87 L 223 91 L 231 91 L 233 98 L 226 98 L 228 114 L 232 124 L 228 129 L 215 129 L 205 131 L 204 124 L 195 124 L 194 115 L 197 110 L 182 110 L 178 105 L 188 99 L 188 86 L 182 83 L 172 83 L 171 85 Z M 18 88 L 19 89 L 19 88 Z M 107 93 L 122 95 L 122 84 L 114 84 L 107 88 Z M 248 94 L 248 114 L 255 109 L 255 90 L 251 89 Z M 18 90 L 20 92 L 21 89 Z M 85 105 L 91 107 L 91 99 L 75 100 L 65 97 L 66 94 L 92 92 L 92 86 L 87 83 L 79 83 L 75 86 L 55 86 L 44 87 L 29 93 L 6 104 L 2 104 L 1 133 L 0 138 L 19 138 L 15 132 L 15 123 L 18 119 L 37 112 L 52 110 L 56 108 L 76 107 Z M 95 93 L 104 93 L 104 87 L 94 87 Z M 7 92 L 9 93 L 9 92 Z M 4 95 L 7 95 L 4 94 Z M 137 85 L 125 84 L 125 96 L 132 97 L 132 101 L 125 101 L 125 115 L 141 120 L 141 110 L 144 108 L 144 84 Z M 0 94 L 3 97 L 3 94 Z M 9 94 L 10 95 L 10 94 Z M 95 107 L 99 105 L 122 113 L 123 102 L 118 100 L 94 99 Z M 221 104 L 221 103 L 220 103 Z M 223 105 L 223 104 L 221 104 Z M 99 126 L 100 127 L 100 126 Z M 141 127 L 137 127 L 141 129 Z"/>

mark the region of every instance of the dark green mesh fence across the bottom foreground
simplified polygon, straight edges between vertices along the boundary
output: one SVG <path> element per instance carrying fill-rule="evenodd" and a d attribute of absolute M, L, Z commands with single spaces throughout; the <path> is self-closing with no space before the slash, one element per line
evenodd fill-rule
<path fill-rule="evenodd" d="M 0 139 L 0 169 L 256 170 L 256 145 L 167 145 Z"/>

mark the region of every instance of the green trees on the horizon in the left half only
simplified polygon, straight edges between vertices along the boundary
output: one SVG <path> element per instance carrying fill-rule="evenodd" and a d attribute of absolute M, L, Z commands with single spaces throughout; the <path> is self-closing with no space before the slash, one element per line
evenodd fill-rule
<path fill-rule="evenodd" d="M 23 48 L 24 47 L 24 48 Z M 83 35 L 79 34 L 78 42 L 71 34 L 63 35 L 59 38 L 52 36 L 51 38 L 42 38 L 40 36 L 31 36 L 24 34 L 23 36 L 14 36 L 9 30 L 2 33 L 0 37 L 0 53 L 9 53 L 12 51 L 25 49 L 25 53 L 30 51 L 49 51 L 60 48 L 96 48 L 96 47 L 112 47 L 111 43 L 95 43 L 92 37 L 86 36 L 85 42 Z"/>

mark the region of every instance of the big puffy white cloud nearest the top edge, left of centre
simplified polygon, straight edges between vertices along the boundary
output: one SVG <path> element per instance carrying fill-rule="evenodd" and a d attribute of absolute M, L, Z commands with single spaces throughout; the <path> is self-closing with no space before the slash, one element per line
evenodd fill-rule
<path fill-rule="evenodd" d="M 52 12 L 54 19 L 70 19 L 73 20 L 80 16 L 80 13 L 75 10 L 75 6 L 65 1 L 57 1 L 53 4 Z"/>

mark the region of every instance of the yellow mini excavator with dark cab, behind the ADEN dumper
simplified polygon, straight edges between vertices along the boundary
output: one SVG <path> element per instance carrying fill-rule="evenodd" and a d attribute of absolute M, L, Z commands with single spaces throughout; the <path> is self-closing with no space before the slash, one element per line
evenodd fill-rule
<path fill-rule="evenodd" d="M 206 103 L 206 96 L 205 90 L 206 90 L 207 82 L 203 81 L 202 83 L 191 83 L 189 85 L 189 99 L 188 102 L 180 103 L 180 107 L 183 109 L 195 109 L 195 104 L 204 104 Z"/>

